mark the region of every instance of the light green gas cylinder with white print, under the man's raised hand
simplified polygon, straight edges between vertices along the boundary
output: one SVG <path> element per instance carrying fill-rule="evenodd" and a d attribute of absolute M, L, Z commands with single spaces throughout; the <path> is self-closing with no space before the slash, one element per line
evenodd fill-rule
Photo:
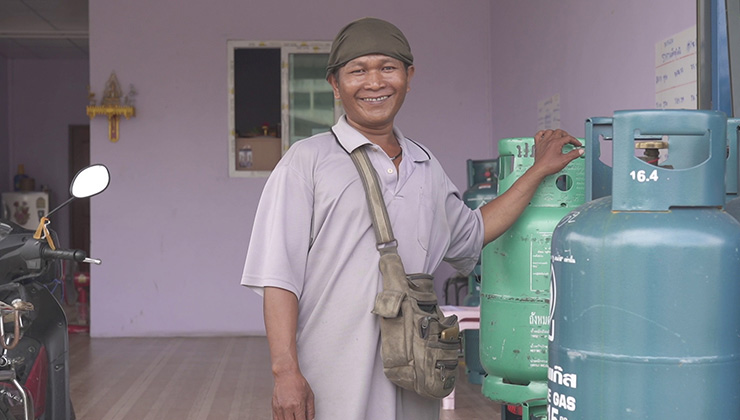
<path fill-rule="evenodd" d="M 499 141 L 499 195 L 534 163 L 534 139 Z M 565 151 L 572 149 L 567 145 Z M 483 395 L 522 405 L 547 394 L 550 238 L 584 202 L 585 159 L 546 177 L 519 219 L 483 249 L 480 356 Z"/>

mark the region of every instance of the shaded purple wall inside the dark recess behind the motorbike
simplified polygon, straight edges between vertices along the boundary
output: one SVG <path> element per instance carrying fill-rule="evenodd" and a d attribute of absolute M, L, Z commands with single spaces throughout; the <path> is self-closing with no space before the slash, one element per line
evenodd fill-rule
<path fill-rule="evenodd" d="M 69 125 L 89 124 L 85 114 L 89 64 L 87 60 L 7 60 L 7 150 L 4 161 L 7 178 L 0 184 L 3 191 L 12 189 L 12 175 L 18 164 L 36 181 L 36 188 L 49 186 L 51 206 L 69 197 Z M 2 63 L 0 63 L 2 64 Z M 0 72 L 2 75 L 2 72 Z M 0 111 L 2 110 L 0 99 Z M 2 134 L 0 134 L 2 136 Z M 0 137 L 0 145 L 2 138 Z M 1 181 L 1 180 L 0 180 Z M 55 213 L 52 228 L 61 245 L 68 246 L 69 213 Z"/>

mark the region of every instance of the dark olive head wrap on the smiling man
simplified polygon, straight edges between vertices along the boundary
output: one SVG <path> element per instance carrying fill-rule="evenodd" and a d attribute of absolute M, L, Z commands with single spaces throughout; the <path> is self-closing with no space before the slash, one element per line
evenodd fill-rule
<path fill-rule="evenodd" d="M 409 66 L 414 64 L 411 46 L 400 29 L 381 19 L 362 18 L 342 28 L 334 38 L 326 77 L 349 61 L 368 54 L 383 54 Z"/>

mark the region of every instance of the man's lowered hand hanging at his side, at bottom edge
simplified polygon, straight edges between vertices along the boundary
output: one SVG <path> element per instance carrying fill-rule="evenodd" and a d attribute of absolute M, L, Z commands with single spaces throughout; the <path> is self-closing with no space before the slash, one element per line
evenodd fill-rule
<path fill-rule="evenodd" d="M 300 372 L 275 375 L 273 420 L 313 420 L 315 414 L 313 391 Z"/>

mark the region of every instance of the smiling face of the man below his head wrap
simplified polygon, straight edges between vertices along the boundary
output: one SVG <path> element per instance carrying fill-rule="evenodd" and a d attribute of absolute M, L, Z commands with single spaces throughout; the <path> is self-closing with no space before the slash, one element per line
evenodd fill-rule
<path fill-rule="evenodd" d="M 413 75 L 413 66 L 406 69 L 400 60 L 371 54 L 348 62 L 338 70 L 338 78 L 329 76 L 329 83 L 350 125 L 375 131 L 393 126 Z"/>

